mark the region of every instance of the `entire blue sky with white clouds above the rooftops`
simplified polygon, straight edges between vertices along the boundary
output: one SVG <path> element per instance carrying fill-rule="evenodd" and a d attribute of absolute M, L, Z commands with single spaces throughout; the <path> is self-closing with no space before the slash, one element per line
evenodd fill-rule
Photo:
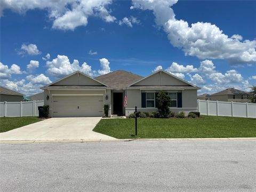
<path fill-rule="evenodd" d="M 1 84 L 27 95 L 77 69 L 162 68 L 198 94 L 256 83 L 255 1 L 21 0 L 1 9 Z"/>

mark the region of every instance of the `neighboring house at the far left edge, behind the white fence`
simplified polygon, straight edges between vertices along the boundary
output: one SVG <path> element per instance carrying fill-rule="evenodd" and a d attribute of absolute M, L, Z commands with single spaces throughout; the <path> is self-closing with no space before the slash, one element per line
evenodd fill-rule
<path fill-rule="evenodd" d="M 0 86 L 0 101 L 14 102 L 23 101 L 23 94 Z"/>

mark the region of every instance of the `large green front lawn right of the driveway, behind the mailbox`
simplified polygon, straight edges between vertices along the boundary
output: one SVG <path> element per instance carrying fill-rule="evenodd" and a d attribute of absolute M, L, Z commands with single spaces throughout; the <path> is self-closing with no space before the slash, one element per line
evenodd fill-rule
<path fill-rule="evenodd" d="M 134 138 L 135 119 L 101 119 L 93 131 L 118 139 Z M 138 118 L 140 138 L 256 137 L 256 119 L 202 116 L 202 118 Z"/>

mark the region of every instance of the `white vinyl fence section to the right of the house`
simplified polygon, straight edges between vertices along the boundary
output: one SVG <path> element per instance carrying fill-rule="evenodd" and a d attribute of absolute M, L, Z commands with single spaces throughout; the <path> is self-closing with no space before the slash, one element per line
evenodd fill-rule
<path fill-rule="evenodd" d="M 197 100 L 202 115 L 256 118 L 256 103 Z"/>

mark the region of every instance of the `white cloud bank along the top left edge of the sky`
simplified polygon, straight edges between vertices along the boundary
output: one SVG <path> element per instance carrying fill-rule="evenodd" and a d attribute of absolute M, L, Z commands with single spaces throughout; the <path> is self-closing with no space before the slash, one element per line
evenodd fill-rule
<path fill-rule="evenodd" d="M 34 9 L 46 10 L 49 19 L 53 20 L 52 28 L 74 30 L 78 26 L 86 26 L 88 18 L 91 16 L 99 17 L 106 22 L 114 22 L 116 18 L 111 16 L 111 11 L 107 9 L 109 4 L 111 4 L 110 0 L 2 0 L 1 15 L 3 15 L 3 10 L 5 9 L 11 9 L 21 14 Z"/>

